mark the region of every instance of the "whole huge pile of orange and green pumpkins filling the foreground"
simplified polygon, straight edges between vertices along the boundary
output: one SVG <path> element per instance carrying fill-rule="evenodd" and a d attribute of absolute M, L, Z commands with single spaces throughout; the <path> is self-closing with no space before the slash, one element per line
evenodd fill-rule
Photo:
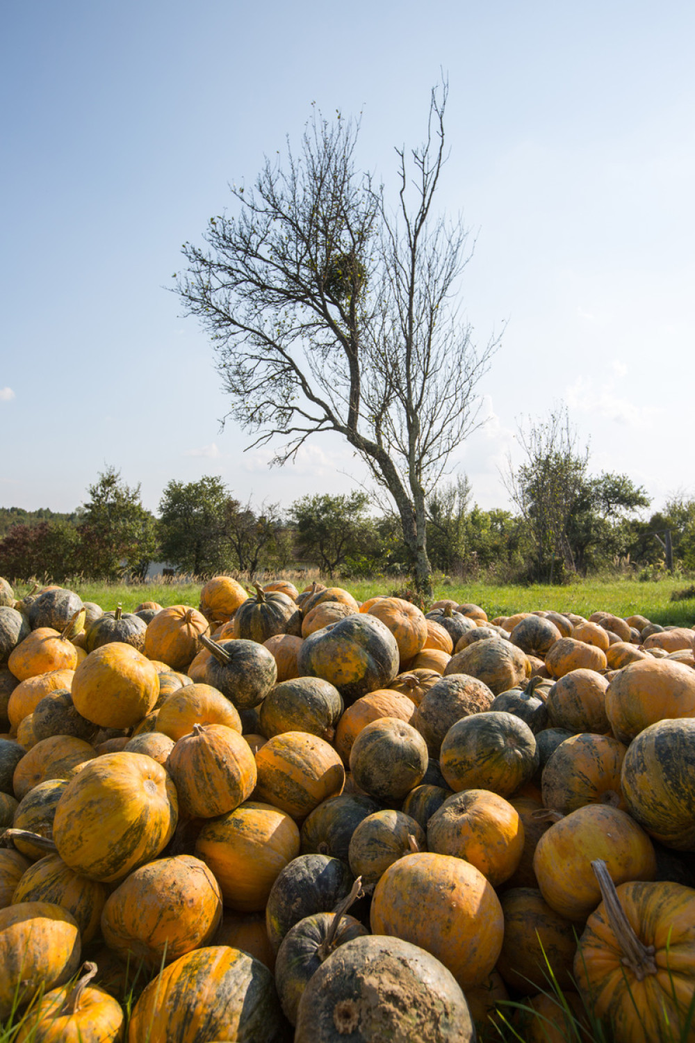
<path fill-rule="evenodd" d="M 510 997 L 529 1043 L 564 1003 L 695 1039 L 693 630 L 228 577 L 0 601 L 19 1041 L 125 1039 L 128 989 L 130 1043 L 470 1041 Z"/>

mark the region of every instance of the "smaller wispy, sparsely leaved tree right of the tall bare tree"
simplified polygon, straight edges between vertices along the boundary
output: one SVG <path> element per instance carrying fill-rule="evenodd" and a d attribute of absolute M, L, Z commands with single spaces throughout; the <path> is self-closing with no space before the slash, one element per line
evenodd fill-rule
<path fill-rule="evenodd" d="M 504 487 L 525 520 L 535 547 L 536 578 L 555 578 L 556 562 L 575 571 L 568 523 L 587 480 L 589 447 L 579 446 L 567 406 L 545 420 L 527 417 L 517 426 L 525 460 L 515 467 L 507 454 Z"/>

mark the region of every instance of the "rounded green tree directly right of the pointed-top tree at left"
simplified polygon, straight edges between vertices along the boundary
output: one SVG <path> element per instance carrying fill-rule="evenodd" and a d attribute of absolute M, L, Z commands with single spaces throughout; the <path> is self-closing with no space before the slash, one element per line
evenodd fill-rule
<path fill-rule="evenodd" d="M 239 507 L 220 477 L 172 480 L 159 501 L 159 548 L 179 572 L 212 576 L 229 567 L 227 519 Z"/>

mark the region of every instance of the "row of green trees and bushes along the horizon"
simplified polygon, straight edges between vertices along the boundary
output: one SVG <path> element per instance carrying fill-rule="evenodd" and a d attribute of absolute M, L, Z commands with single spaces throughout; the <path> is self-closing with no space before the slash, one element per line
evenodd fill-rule
<path fill-rule="evenodd" d="M 571 503 L 563 500 L 559 526 L 552 496 L 544 502 L 541 489 L 539 482 L 515 513 L 472 503 L 465 478 L 443 484 L 427 501 L 432 567 L 510 583 L 564 582 L 606 569 L 650 578 L 665 571 L 669 532 L 674 565 L 695 568 L 695 500 L 674 495 L 645 520 L 639 512 L 649 500 L 626 476 L 584 475 Z M 169 482 L 155 517 L 143 507 L 140 486 L 129 487 L 108 467 L 71 514 L 3 508 L 0 575 L 136 580 L 159 561 L 200 577 L 298 564 L 332 577 L 404 576 L 411 562 L 399 520 L 374 514 L 371 506 L 365 492 L 353 491 L 302 496 L 286 511 L 278 504 L 254 507 L 235 499 L 221 478 L 206 476 Z"/>

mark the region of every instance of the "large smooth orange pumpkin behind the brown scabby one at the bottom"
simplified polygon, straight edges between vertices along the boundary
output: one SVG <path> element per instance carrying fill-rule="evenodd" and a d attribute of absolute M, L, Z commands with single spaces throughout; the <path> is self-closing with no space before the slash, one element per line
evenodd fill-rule
<path fill-rule="evenodd" d="M 462 989 L 497 963 L 504 921 L 492 884 L 474 866 L 446 854 L 399 858 L 374 890 L 372 933 L 412 942 L 437 956 Z"/>

